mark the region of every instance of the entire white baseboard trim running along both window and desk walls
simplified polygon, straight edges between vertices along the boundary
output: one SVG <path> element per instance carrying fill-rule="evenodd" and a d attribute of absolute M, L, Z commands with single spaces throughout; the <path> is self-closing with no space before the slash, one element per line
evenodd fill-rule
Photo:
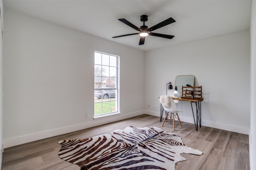
<path fill-rule="evenodd" d="M 67 127 L 61 127 L 58 129 L 52 129 L 49 131 L 43 131 L 43 132 L 38 132 L 38 133 L 34 133 L 34 134 L 15 137 L 12 139 L 3 140 L 3 149 L 9 148 L 9 147 L 14 147 L 16 145 L 22 145 L 24 143 L 38 141 L 41 139 L 46 139 L 48 137 L 54 137 L 54 136 L 62 135 L 65 133 L 79 131 L 79 130 L 87 129 L 90 127 L 95 127 L 98 125 L 104 125 L 106 123 L 111 123 L 111 122 L 119 121 L 122 119 L 128 119 L 130 117 L 134 117 L 134 116 L 138 116 L 138 115 L 142 115 L 142 114 L 148 114 L 148 115 L 160 117 L 159 112 L 149 111 L 149 110 L 141 110 L 141 111 L 126 113 L 126 114 L 120 113 L 120 114 L 117 114 L 114 119 L 113 119 L 113 117 L 108 117 L 106 119 L 100 119 L 100 120 L 93 120 L 91 118 L 92 121 L 88 121 L 86 123 L 80 123 L 80 124 L 71 125 L 71 126 L 67 126 Z M 187 123 L 194 123 L 194 119 L 192 117 L 180 116 L 180 119 L 182 119 L 182 121 L 187 122 Z M 227 124 L 223 124 L 223 123 L 204 121 L 204 120 L 202 120 L 202 125 L 207 126 L 207 127 L 213 127 L 216 129 L 222 129 L 222 130 L 226 130 L 226 131 L 242 133 L 242 134 L 246 134 L 246 135 L 249 134 L 249 128 L 246 128 L 246 127 L 239 127 L 239 126 L 227 125 Z"/>

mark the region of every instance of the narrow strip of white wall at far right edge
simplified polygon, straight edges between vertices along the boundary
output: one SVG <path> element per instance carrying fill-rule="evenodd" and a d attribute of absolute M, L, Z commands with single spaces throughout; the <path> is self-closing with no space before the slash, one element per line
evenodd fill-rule
<path fill-rule="evenodd" d="M 252 1 L 251 14 L 251 117 L 250 117 L 250 169 L 256 169 L 256 2 Z"/>

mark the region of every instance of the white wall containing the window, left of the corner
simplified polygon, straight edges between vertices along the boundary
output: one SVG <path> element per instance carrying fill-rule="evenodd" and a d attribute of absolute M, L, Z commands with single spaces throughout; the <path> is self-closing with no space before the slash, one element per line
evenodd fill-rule
<path fill-rule="evenodd" d="M 143 51 L 9 9 L 4 29 L 4 148 L 144 113 Z M 94 51 L 120 56 L 115 117 L 92 118 Z"/>

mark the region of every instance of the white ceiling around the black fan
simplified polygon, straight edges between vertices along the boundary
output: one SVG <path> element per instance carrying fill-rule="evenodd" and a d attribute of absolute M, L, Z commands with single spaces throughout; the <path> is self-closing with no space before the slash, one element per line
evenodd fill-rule
<path fill-rule="evenodd" d="M 4 0 L 4 8 L 148 51 L 250 29 L 251 0 Z M 140 27 L 143 14 L 148 27 L 174 18 L 176 22 L 152 32 L 175 37 L 148 36 L 144 45 L 138 45 L 139 35 L 112 38 L 137 33 L 118 19 Z"/>

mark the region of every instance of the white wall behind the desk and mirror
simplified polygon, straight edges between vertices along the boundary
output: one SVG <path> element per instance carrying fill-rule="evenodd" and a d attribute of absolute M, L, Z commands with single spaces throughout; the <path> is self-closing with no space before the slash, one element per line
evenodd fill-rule
<path fill-rule="evenodd" d="M 248 134 L 249 30 L 147 51 L 145 57 L 146 113 L 159 116 L 158 97 L 166 94 L 166 83 L 174 86 L 176 76 L 192 74 L 203 89 L 202 125 Z M 178 109 L 184 111 L 182 121 L 194 123 L 190 102 L 179 101 Z"/>

